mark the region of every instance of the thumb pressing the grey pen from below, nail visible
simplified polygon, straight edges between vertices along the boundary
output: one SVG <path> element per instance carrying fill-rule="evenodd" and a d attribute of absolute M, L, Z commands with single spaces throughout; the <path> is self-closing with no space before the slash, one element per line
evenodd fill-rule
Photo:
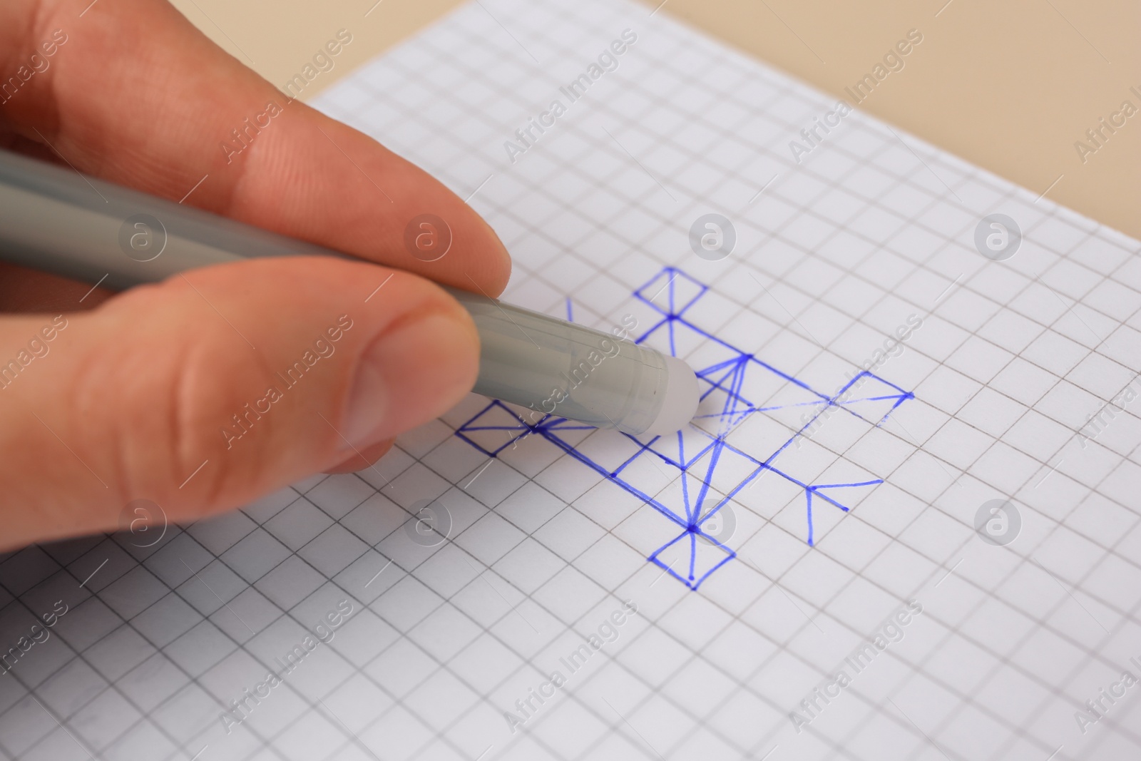
<path fill-rule="evenodd" d="M 462 398 L 478 351 L 438 286 L 324 258 L 0 321 L 0 550 L 114 531 L 140 499 L 193 520 L 375 452 Z"/>

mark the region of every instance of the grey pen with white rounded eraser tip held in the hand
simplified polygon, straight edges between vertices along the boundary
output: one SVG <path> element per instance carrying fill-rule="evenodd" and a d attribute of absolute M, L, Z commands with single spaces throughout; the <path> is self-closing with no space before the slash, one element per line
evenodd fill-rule
<path fill-rule="evenodd" d="M 0 151 L 0 258 L 122 290 L 256 257 L 331 249 Z M 479 333 L 475 391 L 544 414 L 638 435 L 680 430 L 697 410 L 681 359 L 453 288 Z M 526 418 L 525 418 L 526 419 Z"/>

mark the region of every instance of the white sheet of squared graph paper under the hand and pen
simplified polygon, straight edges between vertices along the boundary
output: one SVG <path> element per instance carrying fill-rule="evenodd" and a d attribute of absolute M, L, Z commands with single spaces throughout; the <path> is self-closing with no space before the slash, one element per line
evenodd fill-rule
<path fill-rule="evenodd" d="M 472 396 L 13 553 L 0 759 L 1141 752 L 1138 242 L 650 10 L 482 0 L 316 105 L 486 216 L 504 298 L 686 358 L 695 424 Z"/>

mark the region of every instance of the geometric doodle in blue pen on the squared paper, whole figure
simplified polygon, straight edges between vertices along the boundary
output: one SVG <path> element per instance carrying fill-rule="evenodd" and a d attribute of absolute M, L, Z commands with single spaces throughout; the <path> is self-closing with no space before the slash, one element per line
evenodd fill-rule
<path fill-rule="evenodd" d="M 677 525 L 679 534 L 650 553 L 648 560 L 691 590 L 736 557 L 736 552 L 718 541 L 718 532 L 711 527 L 718 525 L 718 513 L 762 473 L 775 473 L 803 491 L 809 544 L 814 543 L 814 505 L 827 504 L 847 512 L 842 494 L 882 483 L 882 479 L 809 483 L 810 479 L 799 479 L 775 464 L 790 447 L 799 446 L 798 439 L 808 436 L 809 429 L 823 422 L 822 416 L 842 412 L 880 426 L 896 407 L 914 398 L 912 392 L 868 371 L 858 372 L 835 394 L 812 389 L 690 322 L 686 313 L 707 290 L 709 286 L 681 270 L 666 267 L 633 293 L 661 316 L 637 338 L 638 343 L 653 339 L 657 346 L 667 346 L 674 356 L 679 350 L 690 353 L 695 347 L 701 348 L 688 354 L 691 364 L 705 366 L 696 371 L 702 405 L 687 430 L 654 437 L 623 434 L 623 445 L 616 446 L 616 439 L 612 438 L 599 451 L 589 440 L 584 442 L 594 430 L 591 426 L 557 415 L 527 422 L 496 400 L 455 431 L 492 458 L 528 436 L 542 437 L 653 507 Z M 667 297 L 664 307 L 654 302 L 663 293 Z M 567 315 L 570 316 L 569 301 Z M 798 413 L 795 422 L 790 423 L 791 415 Z M 777 423 L 772 415 L 783 415 L 783 422 Z M 750 427 L 756 430 L 748 430 Z M 735 435 L 738 430 L 748 430 L 750 447 L 755 448 L 758 440 L 770 440 L 764 446 L 772 451 L 760 458 L 743 451 L 738 439 L 744 436 Z M 645 468 L 647 461 L 653 469 Z M 669 473 L 664 488 L 657 478 L 662 473 Z"/>

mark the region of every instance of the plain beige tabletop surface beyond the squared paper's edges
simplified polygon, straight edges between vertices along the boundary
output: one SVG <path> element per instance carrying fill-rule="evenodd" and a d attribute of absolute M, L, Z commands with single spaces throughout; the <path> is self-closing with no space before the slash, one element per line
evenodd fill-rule
<path fill-rule="evenodd" d="M 494 11 L 495 0 L 483 1 Z M 306 98 L 459 5 L 374 2 L 175 0 L 278 87 L 347 29 L 353 43 Z M 923 42 L 861 108 L 1141 238 L 1141 113 L 1085 163 L 1074 146 L 1123 100 L 1141 110 L 1130 91 L 1141 92 L 1135 0 L 667 0 L 658 13 L 845 98 L 845 86 L 916 29 Z"/>

